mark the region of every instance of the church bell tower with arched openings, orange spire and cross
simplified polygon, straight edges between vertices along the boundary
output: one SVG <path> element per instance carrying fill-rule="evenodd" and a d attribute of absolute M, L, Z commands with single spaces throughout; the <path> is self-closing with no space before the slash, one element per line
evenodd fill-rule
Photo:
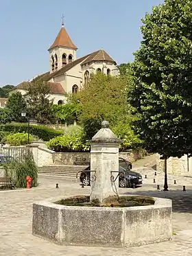
<path fill-rule="evenodd" d="M 58 71 L 73 60 L 76 60 L 76 50 L 77 47 L 64 28 L 64 16 L 62 15 L 62 27 L 60 32 L 48 49 L 50 73 Z"/>

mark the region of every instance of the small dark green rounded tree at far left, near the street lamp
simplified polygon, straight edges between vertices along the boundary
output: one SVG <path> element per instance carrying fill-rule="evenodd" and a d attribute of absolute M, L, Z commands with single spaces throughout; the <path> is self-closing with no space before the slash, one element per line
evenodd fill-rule
<path fill-rule="evenodd" d="M 6 110 L 10 115 L 12 121 L 22 121 L 21 111 L 26 108 L 26 102 L 21 93 L 12 93 L 8 97 L 8 103 L 6 104 Z"/>

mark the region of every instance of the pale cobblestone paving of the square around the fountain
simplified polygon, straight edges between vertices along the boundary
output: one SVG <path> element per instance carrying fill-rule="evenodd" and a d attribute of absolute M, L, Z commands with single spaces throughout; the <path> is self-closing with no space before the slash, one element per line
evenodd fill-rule
<path fill-rule="evenodd" d="M 171 198 L 173 200 L 173 231 L 176 235 L 170 242 L 151 244 L 147 246 L 129 248 L 128 250 L 114 248 L 86 248 L 57 246 L 32 235 L 32 203 L 45 198 L 69 195 L 87 194 L 88 187 L 80 188 L 80 183 L 70 179 L 43 178 L 36 189 L 29 191 L 0 191 L 0 255 L 1 256 L 191 256 L 192 255 L 192 183 L 191 178 L 178 179 L 178 185 L 171 185 L 169 191 L 158 191 L 152 183 L 153 171 L 140 170 L 148 178 L 138 189 L 119 189 L 121 194 L 146 194 Z M 158 176 L 161 181 L 160 176 Z M 169 181 L 174 179 L 169 177 Z M 183 181 L 187 191 L 182 191 Z M 59 183 L 60 189 L 55 185 Z M 163 184 L 163 182 L 162 182 Z M 191 184 L 191 185 L 190 185 Z"/>

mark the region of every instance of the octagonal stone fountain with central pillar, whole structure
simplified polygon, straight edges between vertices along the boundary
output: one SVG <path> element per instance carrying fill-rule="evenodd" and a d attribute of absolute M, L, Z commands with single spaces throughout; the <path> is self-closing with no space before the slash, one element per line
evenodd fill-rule
<path fill-rule="evenodd" d="M 91 140 L 90 195 L 34 203 L 34 235 L 60 245 L 123 248 L 171 240 L 171 200 L 143 196 L 143 202 L 151 203 L 134 207 L 119 203 L 133 197 L 119 196 L 119 143 L 103 121 Z"/>

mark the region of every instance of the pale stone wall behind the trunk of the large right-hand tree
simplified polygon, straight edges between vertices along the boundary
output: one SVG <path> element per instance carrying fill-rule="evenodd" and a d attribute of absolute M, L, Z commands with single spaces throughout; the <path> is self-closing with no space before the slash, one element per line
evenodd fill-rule
<path fill-rule="evenodd" d="M 178 157 L 169 157 L 167 159 L 167 173 L 168 174 L 186 174 L 192 173 L 191 158 L 187 159 L 187 155 Z M 160 159 L 160 155 L 156 154 L 156 170 L 157 172 L 164 172 L 165 161 Z"/>

